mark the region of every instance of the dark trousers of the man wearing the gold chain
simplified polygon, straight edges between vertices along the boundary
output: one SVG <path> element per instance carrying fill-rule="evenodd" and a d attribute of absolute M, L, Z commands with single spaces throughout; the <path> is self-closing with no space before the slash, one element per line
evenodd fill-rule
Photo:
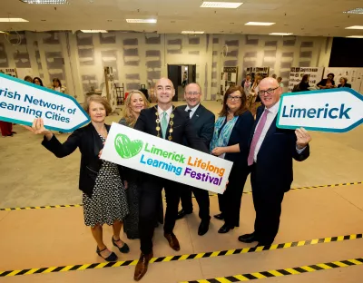
<path fill-rule="evenodd" d="M 139 220 L 141 250 L 144 254 L 152 252 L 152 236 L 160 210 L 162 188 L 166 197 L 164 233 L 172 233 L 178 216 L 180 184 L 151 175 L 145 177 L 140 192 Z"/>

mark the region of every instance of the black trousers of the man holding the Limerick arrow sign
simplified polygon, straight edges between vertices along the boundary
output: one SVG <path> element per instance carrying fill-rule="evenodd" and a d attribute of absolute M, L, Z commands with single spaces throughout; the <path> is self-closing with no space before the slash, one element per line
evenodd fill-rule
<path fill-rule="evenodd" d="M 281 188 L 262 186 L 252 166 L 250 181 L 252 185 L 253 204 L 256 210 L 255 235 L 261 245 L 270 245 L 279 231 L 281 203 L 284 191 Z"/>

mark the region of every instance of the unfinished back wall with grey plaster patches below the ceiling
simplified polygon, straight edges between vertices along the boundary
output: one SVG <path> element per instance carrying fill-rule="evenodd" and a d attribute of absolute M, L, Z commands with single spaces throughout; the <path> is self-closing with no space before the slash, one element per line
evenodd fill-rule
<path fill-rule="evenodd" d="M 241 34 L 108 34 L 32 33 L 21 45 L 0 36 L 0 68 L 31 67 L 45 85 L 59 77 L 70 94 L 83 102 L 91 86 L 103 83 L 103 66 L 112 66 L 115 83 L 125 90 L 153 84 L 167 76 L 167 64 L 196 64 L 204 99 L 215 100 L 223 66 L 238 66 L 238 82 L 247 67 L 270 66 L 289 81 L 296 66 L 329 65 L 332 39 Z M 228 45 L 227 56 L 221 56 Z"/>

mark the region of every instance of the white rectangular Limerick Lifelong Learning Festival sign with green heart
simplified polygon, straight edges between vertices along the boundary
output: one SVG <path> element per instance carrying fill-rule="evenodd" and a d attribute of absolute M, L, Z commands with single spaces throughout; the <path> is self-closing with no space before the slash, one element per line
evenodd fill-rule
<path fill-rule="evenodd" d="M 101 159 L 222 193 L 232 162 L 113 122 Z"/>

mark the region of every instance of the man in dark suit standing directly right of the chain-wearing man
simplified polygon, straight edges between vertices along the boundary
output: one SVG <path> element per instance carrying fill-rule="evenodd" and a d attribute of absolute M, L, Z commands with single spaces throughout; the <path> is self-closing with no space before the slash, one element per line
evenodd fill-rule
<path fill-rule="evenodd" d="M 184 90 L 186 106 L 180 106 L 184 112 L 188 112 L 191 124 L 197 131 L 198 136 L 203 140 L 207 148 L 210 148 L 211 138 L 213 137 L 215 116 L 207 108 L 201 105 L 201 86 L 198 83 L 189 83 Z M 188 141 L 184 145 L 190 146 Z M 201 224 L 198 235 L 202 236 L 208 232 L 210 226 L 210 196 L 208 190 L 201 190 L 189 186 L 183 186 L 181 190 L 182 210 L 178 213 L 178 219 L 182 219 L 186 214 L 191 214 L 191 191 L 199 205 L 199 217 Z"/>

